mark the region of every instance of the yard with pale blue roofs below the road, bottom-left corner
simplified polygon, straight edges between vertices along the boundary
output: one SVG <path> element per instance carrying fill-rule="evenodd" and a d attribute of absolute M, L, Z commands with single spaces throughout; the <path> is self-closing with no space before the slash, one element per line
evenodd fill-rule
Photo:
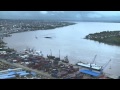
<path fill-rule="evenodd" d="M 8 62 L 0 60 L 0 79 L 48 79 L 43 75 L 39 75 L 33 71 L 17 68 Z"/>

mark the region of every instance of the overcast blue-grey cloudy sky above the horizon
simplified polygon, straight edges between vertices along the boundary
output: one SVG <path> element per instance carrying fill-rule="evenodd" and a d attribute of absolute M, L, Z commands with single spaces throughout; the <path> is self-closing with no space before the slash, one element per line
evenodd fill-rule
<path fill-rule="evenodd" d="M 0 11 L 0 19 L 120 21 L 120 11 Z"/>

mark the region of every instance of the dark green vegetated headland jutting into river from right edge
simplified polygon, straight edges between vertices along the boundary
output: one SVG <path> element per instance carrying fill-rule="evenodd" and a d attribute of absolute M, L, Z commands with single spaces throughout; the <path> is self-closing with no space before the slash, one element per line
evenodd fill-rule
<path fill-rule="evenodd" d="M 120 46 L 120 31 L 103 31 L 100 33 L 89 34 L 85 39 Z"/>

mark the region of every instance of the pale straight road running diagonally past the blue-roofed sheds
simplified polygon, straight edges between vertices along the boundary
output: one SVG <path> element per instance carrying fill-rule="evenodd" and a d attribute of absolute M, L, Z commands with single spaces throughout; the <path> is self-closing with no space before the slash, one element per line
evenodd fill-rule
<path fill-rule="evenodd" d="M 29 71 L 36 72 L 37 74 L 43 75 L 43 76 L 45 76 L 45 77 L 47 77 L 47 78 L 49 78 L 49 79 L 55 79 L 55 78 L 51 77 L 51 75 L 49 75 L 49 74 L 47 74 L 47 73 L 45 73 L 45 72 L 42 72 L 42 71 L 38 71 L 38 70 L 35 70 L 35 69 L 31 69 L 31 68 L 25 67 L 25 66 L 23 66 L 23 65 L 17 64 L 17 63 L 9 63 L 9 62 L 7 62 L 7 61 L 5 61 L 5 60 L 3 60 L 3 59 L 0 59 L 0 61 L 3 62 L 3 63 L 6 63 L 6 64 L 8 64 L 8 65 L 11 65 L 11 66 L 15 66 L 15 67 L 23 68 L 23 69 L 25 69 L 25 70 L 29 70 Z"/>

